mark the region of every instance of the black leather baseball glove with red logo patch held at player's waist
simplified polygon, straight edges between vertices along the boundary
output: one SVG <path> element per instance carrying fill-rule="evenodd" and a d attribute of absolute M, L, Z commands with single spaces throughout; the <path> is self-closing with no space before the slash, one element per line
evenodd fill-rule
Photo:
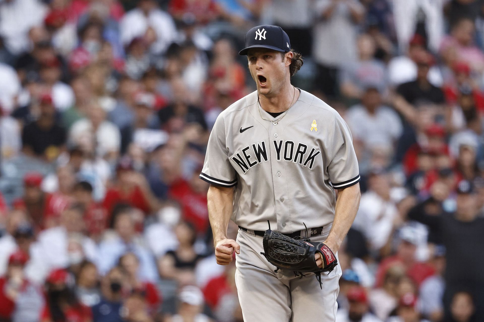
<path fill-rule="evenodd" d="M 309 238 L 290 238 L 286 235 L 266 230 L 262 241 L 264 252 L 262 255 L 279 269 L 288 269 L 300 273 L 304 272 L 316 274 L 316 278 L 321 284 L 321 272 L 331 272 L 338 262 L 331 249 L 322 242 L 311 242 Z M 320 268 L 316 265 L 316 252 L 321 253 L 324 266 Z"/>

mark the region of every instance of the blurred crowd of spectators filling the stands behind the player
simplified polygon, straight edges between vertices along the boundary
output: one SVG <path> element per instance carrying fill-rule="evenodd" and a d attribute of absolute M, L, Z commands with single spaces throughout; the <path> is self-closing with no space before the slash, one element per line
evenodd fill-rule
<path fill-rule="evenodd" d="M 243 321 L 198 174 L 262 23 L 359 158 L 336 321 L 484 321 L 484 1 L 0 0 L 1 322 Z"/>

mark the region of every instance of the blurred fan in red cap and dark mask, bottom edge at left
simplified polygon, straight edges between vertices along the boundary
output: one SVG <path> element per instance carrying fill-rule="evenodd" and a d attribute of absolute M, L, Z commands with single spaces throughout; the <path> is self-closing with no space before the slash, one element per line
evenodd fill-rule
<path fill-rule="evenodd" d="M 56 269 L 47 277 L 46 303 L 40 322 L 92 322 L 91 308 L 77 299 L 68 286 L 69 273 Z"/>

